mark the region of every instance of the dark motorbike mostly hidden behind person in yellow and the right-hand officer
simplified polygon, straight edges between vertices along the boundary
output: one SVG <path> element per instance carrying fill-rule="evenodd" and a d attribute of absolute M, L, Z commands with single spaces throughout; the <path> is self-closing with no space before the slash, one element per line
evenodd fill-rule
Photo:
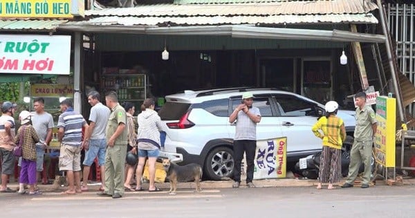
<path fill-rule="evenodd" d="M 349 136 L 348 136 L 349 137 Z M 350 163 L 350 149 L 353 144 L 353 138 L 347 138 L 343 143 L 341 158 L 342 176 L 346 177 L 349 174 L 349 163 Z M 305 158 L 300 158 L 293 167 L 293 173 L 299 176 L 307 177 L 308 179 L 317 179 L 318 172 L 320 169 L 320 156 L 322 152 L 317 154 L 311 154 Z M 372 155 L 371 166 L 372 172 L 374 171 L 374 156 Z M 365 165 L 362 163 L 359 168 L 359 173 L 365 170 Z"/>

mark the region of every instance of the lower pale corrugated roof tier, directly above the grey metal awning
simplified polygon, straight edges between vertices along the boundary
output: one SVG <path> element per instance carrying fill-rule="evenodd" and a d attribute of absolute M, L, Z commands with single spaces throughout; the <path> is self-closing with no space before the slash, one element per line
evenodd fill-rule
<path fill-rule="evenodd" d="M 68 24 L 124 25 L 124 26 L 196 26 L 226 24 L 322 24 L 353 23 L 377 24 L 376 17 L 369 15 L 273 15 L 273 16 L 214 16 L 214 17 L 95 17 L 89 21 L 69 22 Z"/>

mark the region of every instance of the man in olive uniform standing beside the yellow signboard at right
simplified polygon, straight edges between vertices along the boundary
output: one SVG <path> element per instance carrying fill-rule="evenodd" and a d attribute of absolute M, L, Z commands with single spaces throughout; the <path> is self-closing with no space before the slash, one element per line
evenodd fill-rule
<path fill-rule="evenodd" d="M 362 188 L 369 188 L 372 144 L 378 126 L 374 110 L 366 105 L 366 94 L 363 92 L 356 93 L 355 101 L 358 108 L 356 109 L 354 142 L 350 152 L 349 175 L 342 188 L 353 187 L 362 163 L 365 164 Z"/>

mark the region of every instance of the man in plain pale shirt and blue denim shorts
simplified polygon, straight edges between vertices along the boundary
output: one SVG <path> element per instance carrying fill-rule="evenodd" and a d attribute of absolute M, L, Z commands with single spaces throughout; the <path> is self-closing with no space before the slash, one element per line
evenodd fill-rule
<path fill-rule="evenodd" d="M 82 174 L 82 191 L 88 190 L 88 177 L 89 171 L 91 170 L 91 165 L 93 160 L 98 156 L 98 164 L 100 165 L 101 170 L 101 188 L 104 190 L 104 181 L 105 181 L 105 152 L 107 150 L 107 140 L 105 138 L 105 128 L 107 127 L 107 122 L 109 118 L 108 107 L 105 107 L 100 102 L 100 93 L 98 91 L 91 91 L 88 94 L 88 102 L 92 106 L 91 113 L 89 114 L 89 127 L 85 129 L 84 136 L 84 149 L 85 159 L 84 159 L 84 172 Z"/>

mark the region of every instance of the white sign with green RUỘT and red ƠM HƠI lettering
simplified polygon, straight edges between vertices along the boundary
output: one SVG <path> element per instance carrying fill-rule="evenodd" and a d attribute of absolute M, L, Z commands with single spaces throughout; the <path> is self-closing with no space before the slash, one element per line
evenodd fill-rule
<path fill-rule="evenodd" d="M 0 73 L 70 72 L 71 36 L 0 35 Z"/>

